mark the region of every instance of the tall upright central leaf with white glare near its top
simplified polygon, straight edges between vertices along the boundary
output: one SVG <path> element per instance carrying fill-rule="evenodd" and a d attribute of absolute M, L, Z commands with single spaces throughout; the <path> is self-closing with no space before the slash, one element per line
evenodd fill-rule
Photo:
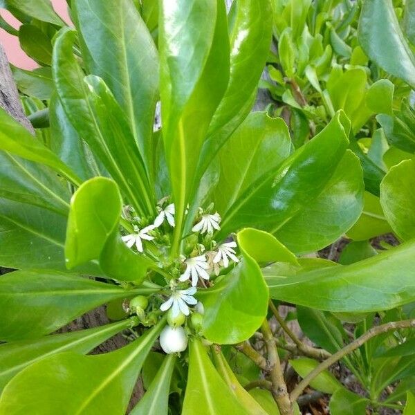
<path fill-rule="evenodd" d="M 227 26 L 222 0 L 160 3 L 160 96 L 166 161 L 176 205 L 174 251 L 178 250 L 203 140 L 228 86 Z"/>

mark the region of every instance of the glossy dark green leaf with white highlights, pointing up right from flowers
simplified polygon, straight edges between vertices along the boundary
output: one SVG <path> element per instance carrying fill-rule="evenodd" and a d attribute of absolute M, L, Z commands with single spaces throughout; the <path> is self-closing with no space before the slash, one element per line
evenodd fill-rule
<path fill-rule="evenodd" d="M 249 226 L 274 233 L 301 215 L 324 191 L 347 149 L 341 117 L 338 113 L 321 133 L 281 166 L 257 178 L 223 217 L 219 236 Z M 277 238 L 285 244 L 278 234 Z"/>

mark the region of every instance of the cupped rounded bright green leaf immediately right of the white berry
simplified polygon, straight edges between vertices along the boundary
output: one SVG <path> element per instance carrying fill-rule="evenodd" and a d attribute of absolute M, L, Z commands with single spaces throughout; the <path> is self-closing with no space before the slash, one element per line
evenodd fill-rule
<path fill-rule="evenodd" d="M 268 311 L 268 288 L 261 270 L 240 242 L 239 247 L 241 263 L 213 288 L 198 292 L 205 307 L 203 335 L 214 343 L 234 344 L 250 338 Z"/>

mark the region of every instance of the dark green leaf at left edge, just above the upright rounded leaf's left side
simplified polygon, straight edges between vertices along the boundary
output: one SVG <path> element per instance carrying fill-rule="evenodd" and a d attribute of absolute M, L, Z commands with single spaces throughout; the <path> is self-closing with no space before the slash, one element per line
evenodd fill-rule
<path fill-rule="evenodd" d="M 71 194 L 47 167 L 1 151 L 0 173 L 0 197 L 68 214 Z"/>

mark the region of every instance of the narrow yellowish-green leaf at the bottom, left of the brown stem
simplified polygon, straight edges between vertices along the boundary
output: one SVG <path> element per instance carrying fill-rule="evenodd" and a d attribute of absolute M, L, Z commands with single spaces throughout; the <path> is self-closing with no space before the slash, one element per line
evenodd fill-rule
<path fill-rule="evenodd" d="M 228 385 L 234 396 L 237 397 L 239 403 L 245 407 L 248 414 L 267 415 L 267 412 L 258 405 L 255 399 L 238 382 L 237 377 L 232 372 L 232 369 L 230 369 L 222 352 L 215 347 L 212 347 L 212 360 L 219 375 L 225 381 L 226 385 Z"/>

